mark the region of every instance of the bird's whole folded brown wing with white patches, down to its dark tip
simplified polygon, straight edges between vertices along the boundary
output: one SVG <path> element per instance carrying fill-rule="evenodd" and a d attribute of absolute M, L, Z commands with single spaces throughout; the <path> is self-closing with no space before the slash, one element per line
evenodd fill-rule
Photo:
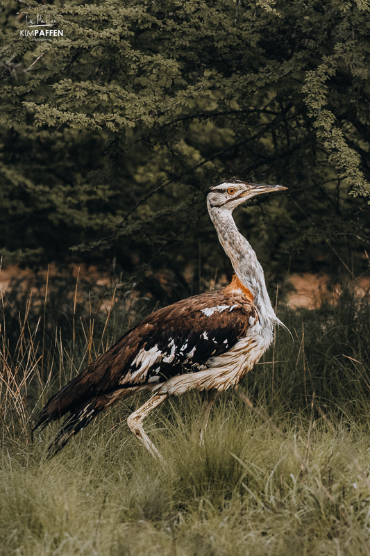
<path fill-rule="evenodd" d="M 35 428 L 119 389 L 201 370 L 246 335 L 253 304 L 228 288 L 187 298 L 146 317 L 53 396 Z"/>

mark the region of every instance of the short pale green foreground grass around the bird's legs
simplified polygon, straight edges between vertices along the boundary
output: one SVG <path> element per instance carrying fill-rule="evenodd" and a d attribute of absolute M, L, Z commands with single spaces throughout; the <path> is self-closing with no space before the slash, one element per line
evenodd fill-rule
<path fill-rule="evenodd" d="M 9 445 L 0 554 L 369 553 L 367 427 L 270 415 L 285 427 L 277 431 L 230 394 L 200 446 L 199 409 L 188 395 L 167 408 L 171 419 L 167 411 L 148 418 L 165 468 L 117 425 L 117 414 L 51 461 L 41 435 Z"/>

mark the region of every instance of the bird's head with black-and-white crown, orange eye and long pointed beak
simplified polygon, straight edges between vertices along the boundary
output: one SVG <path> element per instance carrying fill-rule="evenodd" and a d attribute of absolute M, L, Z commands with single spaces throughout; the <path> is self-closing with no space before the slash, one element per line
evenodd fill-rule
<path fill-rule="evenodd" d="M 261 193 L 280 191 L 287 189 L 284 186 L 263 186 L 260 183 L 249 183 L 239 179 L 229 179 L 220 183 L 219 186 L 211 187 L 207 195 L 208 211 L 212 208 L 226 208 L 233 211 L 246 199 L 251 199 Z"/>

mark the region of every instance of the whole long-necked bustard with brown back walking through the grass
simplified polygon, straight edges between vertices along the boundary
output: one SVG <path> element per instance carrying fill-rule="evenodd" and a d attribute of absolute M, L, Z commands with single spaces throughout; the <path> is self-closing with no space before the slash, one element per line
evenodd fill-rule
<path fill-rule="evenodd" d="M 205 394 L 203 434 L 217 395 L 237 387 L 271 344 L 274 325 L 283 325 L 271 305 L 262 266 L 237 229 L 233 210 L 255 195 L 285 189 L 226 179 L 208 190 L 208 213 L 233 265 L 233 279 L 217 291 L 153 312 L 53 395 L 32 429 L 65 417 L 49 456 L 101 411 L 137 393 L 151 397 L 128 416 L 127 424 L 153 457 L 163 461 L 143 421 L 170 396 L 192 390 Z"/>

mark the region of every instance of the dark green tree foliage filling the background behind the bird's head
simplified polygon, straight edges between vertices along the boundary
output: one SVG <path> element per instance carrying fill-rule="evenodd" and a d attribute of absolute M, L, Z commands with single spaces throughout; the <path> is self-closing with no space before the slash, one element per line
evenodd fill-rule
<path fill-rule="evenodd" d="M 21 11 L 63 36 L 21 37 Z M 308 242 L 370 245 L 368 0 L 11 0 L 1 18 L 8 260 L 72 247 L 214 275 L 205 190 L 226 177 L 289 188 L 238 217 L 269 273 Z"/>

